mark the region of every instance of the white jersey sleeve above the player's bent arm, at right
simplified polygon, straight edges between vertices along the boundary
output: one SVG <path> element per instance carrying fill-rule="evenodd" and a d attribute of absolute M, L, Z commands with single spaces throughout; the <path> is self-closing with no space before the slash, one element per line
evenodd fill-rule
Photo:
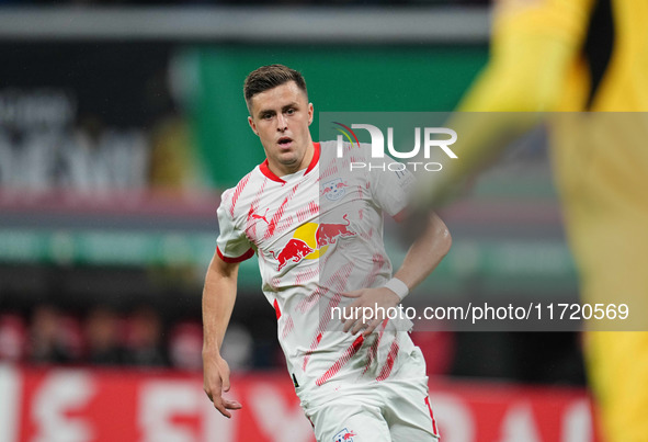
<path fill-rule="evenodd" d="M 380 159 L 372 158 L 371 162 L 372 168 L 368 171 L 368 180 L 373 199 L 390 216 L 396 216 L 409 203 L 414 177 L 405 168 L 405 165 L 387 155 Z"/>

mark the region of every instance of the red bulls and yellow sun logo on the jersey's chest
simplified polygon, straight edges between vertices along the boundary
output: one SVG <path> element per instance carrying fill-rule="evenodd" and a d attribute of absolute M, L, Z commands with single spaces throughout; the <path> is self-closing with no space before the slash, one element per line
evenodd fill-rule
<path fill-rule="evenodd" d="M 271 250 L 272 258 L 278 261 L 277 271 L 287 263 L 297 263 L 303 259 L 317 259 L 325 254 L 330 245 L 334 245 L 339 238 L 354 236 L 355 231 L 349 229 L 351 222 L 346 214 L 342 216 L 344 223 L 306 223 L 293 234 L 293 238 L 278 252 Z"/>

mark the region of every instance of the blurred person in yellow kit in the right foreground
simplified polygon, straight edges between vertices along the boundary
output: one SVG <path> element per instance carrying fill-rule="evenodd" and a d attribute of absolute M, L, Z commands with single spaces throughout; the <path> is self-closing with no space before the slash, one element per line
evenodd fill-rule
<path fill-rule="evenodd" d="M 507 141 L 547 121 L 581 299 L 633 308 L 627 328 L 587 324 L 603 434 L 647 441 L 648 2 L 501 0 L 494 8 L 490 60 L 458 106 L 480 114 L 446 123 L 458 134 L 459 159 L 428 183 L 419 203 L 441 206 Z M 554 111 L 568 113 L 542 113 Z M 494 114 L 507 112 L 520 113 Z"/>

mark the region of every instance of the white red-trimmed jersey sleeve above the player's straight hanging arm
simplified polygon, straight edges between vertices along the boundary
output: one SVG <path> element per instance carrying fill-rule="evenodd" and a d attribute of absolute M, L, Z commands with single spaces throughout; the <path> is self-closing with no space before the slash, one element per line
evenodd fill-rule
<path fill-rule="evenodd" d="M 225 262 L 241 262 L 254 254 L 246 233 L 239 228 L 234 218 L 232 196 L 234 190 L 223 193 L 220 206 L 218 207 L 218 226 L 220 233 L 216 240 L 216 252 Z"/>

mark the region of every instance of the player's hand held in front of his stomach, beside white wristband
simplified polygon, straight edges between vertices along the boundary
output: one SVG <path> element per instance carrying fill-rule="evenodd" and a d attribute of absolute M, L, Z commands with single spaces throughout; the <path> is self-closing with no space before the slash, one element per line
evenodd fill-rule
<path fill-rule="evenodd" d="M 355 335 L 364 328 L 362 332 L 364 337 L 373 333 L 376 327 L 383 322 L 389 309 L 400 303 L 396 293 L 386 287 L 356 290 L 342 293 L 342 296 L 355 298 L 344 308 L 343 330 L 345 332 L 351 330 L 351 333 Z M 378 307 L 382 309 L 377 310 Z"/>

